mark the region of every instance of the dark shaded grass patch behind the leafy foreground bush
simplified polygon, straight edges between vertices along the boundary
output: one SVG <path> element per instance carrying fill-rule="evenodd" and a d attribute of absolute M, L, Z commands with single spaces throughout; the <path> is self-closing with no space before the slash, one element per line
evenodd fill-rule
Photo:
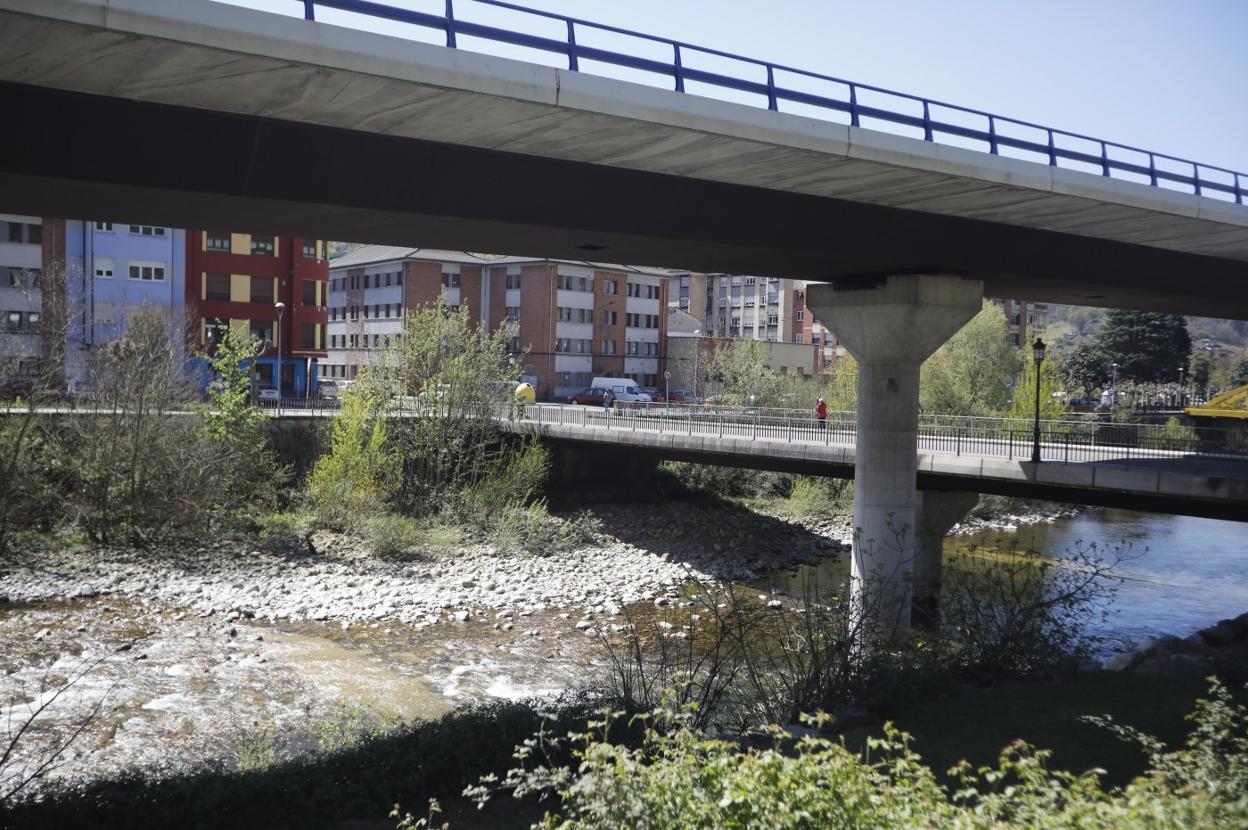
<path fill-rule="evenodd" d="M 1204 680 L 1181 680 L 1123 671 L 1083 671 L 1058 683 L 1030 683 L 971 691 L 899 706 L 890 720 L 915 738 L 915 750 L 943 774 L 966 759 L 995 763 L 1001 749 L 1022 739 L 1053 751 L 1051 765 L 1073 773 L 1101 768 L 1106 784 L 1126 784 L 1143 771 L 1146 758 L 1083 715 L 1111 715 L 1159 738 L 1172 749 L 1186 739 L 1187 714 L 1208 690 Z M 882 730 L 872 734 L 880 735 Z M 851 733 L 857 745 L 866 730 Z"/>

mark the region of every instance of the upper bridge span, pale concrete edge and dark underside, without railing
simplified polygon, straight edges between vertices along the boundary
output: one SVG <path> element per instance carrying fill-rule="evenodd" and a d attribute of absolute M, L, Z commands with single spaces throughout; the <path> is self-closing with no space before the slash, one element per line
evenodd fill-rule
<path fill-rule="evenodd" d="M 20 213 L 1248 318 L 1226 195 L 232 5 L 0 0 L 0 105 Z"/>

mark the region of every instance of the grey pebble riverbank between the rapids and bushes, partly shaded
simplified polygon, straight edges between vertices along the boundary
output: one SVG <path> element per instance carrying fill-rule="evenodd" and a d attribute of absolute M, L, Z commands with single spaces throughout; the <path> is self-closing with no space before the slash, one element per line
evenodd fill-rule
<path fill-rule="evenodd" d="M 180 613 L 235 619 L 388 620 L 417 627 L 469 618 L 505 620 L 560 609 L 603 614 L 690 578 L 740 580 L 834 557 L 844 542 L 796 523 L 696 504 L 594 510 L 594 543 L 547 555 L 500 554 L 468 544 L 369 554 L 359 539 L 318 533 L 314 553 L 215 543 L 178 549 L 51 547 L 0 565 L 0 598 L 15 603 L 142 598 Z"/>

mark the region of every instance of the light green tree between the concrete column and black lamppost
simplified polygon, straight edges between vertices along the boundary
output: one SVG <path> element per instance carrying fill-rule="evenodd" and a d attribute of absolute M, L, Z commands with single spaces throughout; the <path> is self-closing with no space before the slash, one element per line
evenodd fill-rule
<path fill-rule="evenodd" d="M 919 387 L 922 411 L 981 416 L 1005 412 L 1022 359 L 1006 334 L 1005 313 L 986 302 L 924 363 Z"/>

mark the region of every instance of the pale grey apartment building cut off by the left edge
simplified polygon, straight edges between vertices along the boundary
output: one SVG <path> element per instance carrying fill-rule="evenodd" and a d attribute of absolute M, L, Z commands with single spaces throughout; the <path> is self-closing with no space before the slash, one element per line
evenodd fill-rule
<path fill-rule="evenodd" d="M 0 213 L 0 386 L 40 371 L 44 222 Z"/>

